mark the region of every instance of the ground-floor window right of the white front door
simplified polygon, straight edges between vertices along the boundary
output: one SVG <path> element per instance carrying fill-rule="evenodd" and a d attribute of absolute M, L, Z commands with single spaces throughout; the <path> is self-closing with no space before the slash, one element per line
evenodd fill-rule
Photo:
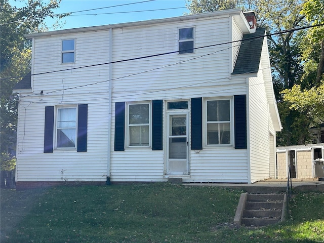
<path fill-rule="evenodd" d="M 207 100 L 207 145 L 231 144 L 231 100 Z"/>

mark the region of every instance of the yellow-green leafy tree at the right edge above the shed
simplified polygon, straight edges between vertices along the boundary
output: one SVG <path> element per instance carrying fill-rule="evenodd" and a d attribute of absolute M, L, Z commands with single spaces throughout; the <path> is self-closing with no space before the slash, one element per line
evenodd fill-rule
<path fill-rule="evenodd" d="M 312 25 L 324 24 L 324 1 L 305 1 L 301 13 Z M 324 123 L 324 27 L 309 28 L 300 38 L 300 47 L 304 71 L 301 83 L 281 94 L 286 108 L 297 115 L 295 124 L 300 123 L 302 128 L 319 128 Z M 315 142 L 309 129 L 298 134 L 298 144 Z"/>

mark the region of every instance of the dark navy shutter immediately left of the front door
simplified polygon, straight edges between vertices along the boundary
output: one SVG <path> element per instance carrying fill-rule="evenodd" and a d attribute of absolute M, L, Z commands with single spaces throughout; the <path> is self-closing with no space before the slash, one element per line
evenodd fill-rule
<path fill-rule="evenodd" d="M 152 101 L 152 150 L 163 150 L 163 100 Z"/>

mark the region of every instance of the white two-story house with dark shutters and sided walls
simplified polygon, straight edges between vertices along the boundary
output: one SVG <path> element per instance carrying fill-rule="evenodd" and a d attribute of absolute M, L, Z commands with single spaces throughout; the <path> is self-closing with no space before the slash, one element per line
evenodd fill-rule
<path fill-rule="evenodd" d="M 28 34 L 17 188 L 275 177 L 264 35 L 239 9 Z"/>

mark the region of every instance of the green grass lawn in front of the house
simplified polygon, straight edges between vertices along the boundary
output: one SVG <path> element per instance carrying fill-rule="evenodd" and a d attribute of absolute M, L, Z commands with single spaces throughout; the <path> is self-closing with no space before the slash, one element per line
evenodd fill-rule
<path fill-rule="evenodd" d="M 1 242 L 324 242 L 324 194 L 297 194 L 292 219 L 233 225 L 241 191 L 168 183 L 1 191 Z"/>

